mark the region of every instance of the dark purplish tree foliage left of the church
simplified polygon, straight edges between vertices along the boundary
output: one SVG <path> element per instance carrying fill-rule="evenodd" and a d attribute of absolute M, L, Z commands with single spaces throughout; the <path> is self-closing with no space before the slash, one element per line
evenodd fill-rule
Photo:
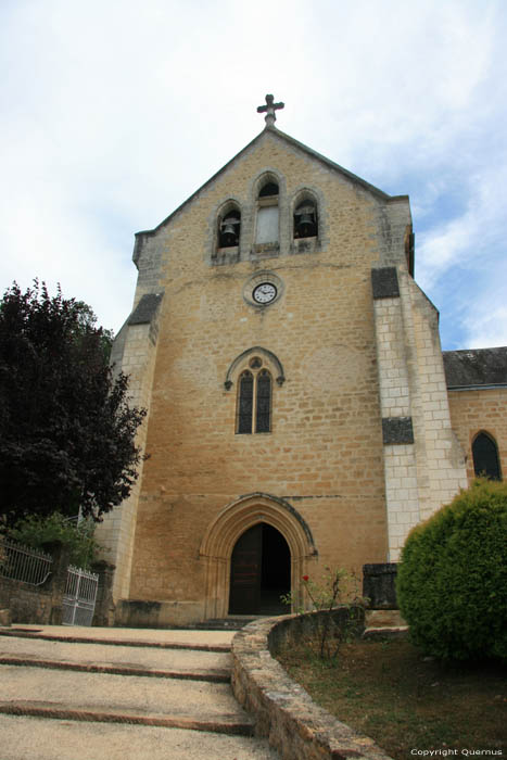
<path fill-rule="evenodd" d="M 128 496 L 144 410 L 109 366 L 111 333 L 89 306 L 36 281 L 0 302 L 0 515 L 98 519 Z"/>

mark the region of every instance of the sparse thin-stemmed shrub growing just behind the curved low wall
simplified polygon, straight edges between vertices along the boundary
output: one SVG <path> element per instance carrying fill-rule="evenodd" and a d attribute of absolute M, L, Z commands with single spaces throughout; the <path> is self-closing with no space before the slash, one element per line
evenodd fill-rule
<path fill-rule="evenodd" d="M 340 647 L 351 641 L 363 621 L 365 599 L 357 593 L 357 578 L 346 570 L 325 568 L 320 582 L 303 575 L 303 590 L 313 611 L 322 613 L 315 618 L 312 642 L 317 645 L 321 660 L 334 660 Z M 347 599 L 345 601 L 345 599 Z M 292 604 L 292 595 L 281 597 L 283 604 Z M 304 608 L 297 610 L 303 616 Z"/>

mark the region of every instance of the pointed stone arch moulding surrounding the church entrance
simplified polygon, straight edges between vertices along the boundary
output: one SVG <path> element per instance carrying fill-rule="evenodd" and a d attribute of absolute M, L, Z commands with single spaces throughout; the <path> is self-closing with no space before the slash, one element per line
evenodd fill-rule
<path fill-rule="evenodd" d="M 276 528 L 291 553 L 291 591 L 300 604 L 301 579 L 317 557 L 312 531 L 288 502 L 269 494 L 242 496 L 223 509 L 208 525 L 201 543 L 200 558 L 206 562 L 205 619 L 224 618 L 228 611 L 230 558 L 238 539 L 258 522 Z"/>

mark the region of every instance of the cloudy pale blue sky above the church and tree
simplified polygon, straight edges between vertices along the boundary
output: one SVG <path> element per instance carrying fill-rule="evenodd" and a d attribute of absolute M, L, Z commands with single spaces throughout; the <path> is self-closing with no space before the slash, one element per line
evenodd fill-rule
<path fill-rule="evenodd" d="M 2 0 L 0 288 L 119 330 L 134 235 L 263 128 L 410 197 L 444 350 L 507 345 L 505 0 Z"/>

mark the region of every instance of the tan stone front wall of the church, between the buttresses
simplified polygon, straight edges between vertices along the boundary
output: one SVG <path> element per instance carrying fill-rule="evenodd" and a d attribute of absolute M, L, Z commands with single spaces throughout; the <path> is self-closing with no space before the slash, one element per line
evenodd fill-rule
<path fill-rule="evenodd" d="M 265 172 L 279 181 L 280 240 L 261 256 L 252 241 Z M 292 199 L 303 187 L 319 202 L 319 244 L 304 254 L 292 248 L 291 227 Z M 241 205 L 242 235 L 236 262 L 221 265 L 213 262 L 215 226 L 229 198 Z M 390 244 L 379 223 L 386 205 L 386 195 L 266 134 L 167 224 L 144 235 L 136 300 L 145 292 L 148 271 L 150 287 L 165 295 L 130 599 L 195 605 L 204 616 L 202 541 L 227 505 L 252 493 L 284 499 L 310 527 L 313 574 L 321 571 L 317 565 L 359 571 L 367 560 L 385 560 L 369 271 Z M 406 200 L 398 205 L 404 225 L 396 224 L 404 229 Z M 403 250 L 396 255 L 404 261 Z M 266 308 L 244 295 L 261 273 L 277 277 L 283 291 Z M 240 435 L 237 381 L 243 367 L 229 389 L 224 383 L 235 359 L 256 345 L 276 355 L 286 381 L 274 382 L 270 433 Z M 294 575 L 294 586 L 299 580 Z"/>

